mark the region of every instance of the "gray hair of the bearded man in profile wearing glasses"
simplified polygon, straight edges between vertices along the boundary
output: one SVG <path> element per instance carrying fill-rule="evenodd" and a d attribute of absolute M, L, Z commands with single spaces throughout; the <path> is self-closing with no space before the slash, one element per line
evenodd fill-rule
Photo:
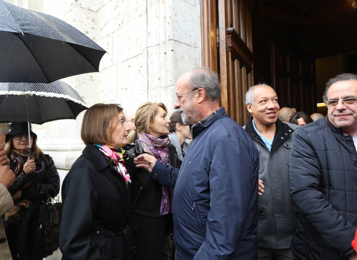
<path fill-rule="evenodd" d="M 218 74 L 208 67 L 198 67 L 193 69 L 188 81 L 190 89 L 202 87 L 205 90 L 207 98 L 213 101 L 221 101 L 221 81 Z M 193 92 L 193 91 L 192 91 Z M 193 94 L 191 94 L 192 96 Z"/>

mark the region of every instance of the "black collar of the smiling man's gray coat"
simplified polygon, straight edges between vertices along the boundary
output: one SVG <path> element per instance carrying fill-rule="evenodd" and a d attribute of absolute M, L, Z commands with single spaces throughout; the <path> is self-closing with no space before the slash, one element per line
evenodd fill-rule
<path fill-rule="evenodd" d="M 272 154 L 278 148 L 278 146 L 294 132 L 294 130 L 290 126 L 288 126 L 285 122 L 281 121 L 280 119 L 276 120 L 275 126 L 276 126 L 276 130 L 275 130 L 273 143 L 271 145 L 270 154 Z M 263 145 L 265 145 L 264 141 L 260 138 L 258 133 L 254 130 L 253 118 L 251 118 L 247 122 L 245 130 L 250 135 L 250 137 L 252 137 L 253 139 L 255 139 L 255 140 L 261 142 Z"/>

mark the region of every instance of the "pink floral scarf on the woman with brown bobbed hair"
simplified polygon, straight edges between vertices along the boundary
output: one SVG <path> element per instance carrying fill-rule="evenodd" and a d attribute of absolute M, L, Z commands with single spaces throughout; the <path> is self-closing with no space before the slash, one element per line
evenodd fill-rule
<path fill-rule="evenodd" d="M 106 159 L 109 161 L 109 163 L 116 169 L 120 175 L 124 178 L 126 186 L 128 186 L 128 183 L 131 183 L 130 180 L 130 175 L 128 171 L 126 170 L 124 166 L 125 160 L 129 159 L 128 154 L 126 153 L 125 150 L 122 149 L 116 149 L 114 147 L 111 147 L 109 145 L 99 145 L 95 144 L 95 147 L 101 151 Z"/>

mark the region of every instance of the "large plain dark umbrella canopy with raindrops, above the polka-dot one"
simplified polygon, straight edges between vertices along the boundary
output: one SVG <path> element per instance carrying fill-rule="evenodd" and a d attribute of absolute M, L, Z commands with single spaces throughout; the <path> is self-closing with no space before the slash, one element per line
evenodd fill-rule
<path fill-rule="evenodd" d="M 0 82 L 49 83 L 97 72 L 105 53 L 64 21 L 0 0 Z"/>

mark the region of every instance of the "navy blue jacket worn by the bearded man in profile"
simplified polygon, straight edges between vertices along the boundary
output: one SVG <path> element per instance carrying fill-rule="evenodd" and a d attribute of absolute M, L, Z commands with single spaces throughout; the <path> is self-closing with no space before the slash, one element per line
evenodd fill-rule
<path fill-rule="evenodd" d="M 151 172 L 161 184 L 176 182 L 176 260 L 256 259 L 256 145 L 223 107 L 191 131 L 180 172 L 159 161 Z"/>

